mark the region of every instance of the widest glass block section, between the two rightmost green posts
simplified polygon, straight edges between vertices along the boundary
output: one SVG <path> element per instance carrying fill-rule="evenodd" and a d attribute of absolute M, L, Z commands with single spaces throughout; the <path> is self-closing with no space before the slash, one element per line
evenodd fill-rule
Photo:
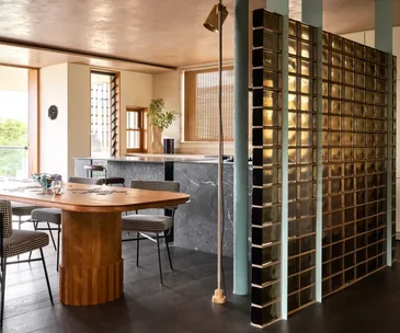
<path fill-rule="evenodd" d="M 386 265 L 387 64 L 323 33 L 323 296 Z"/>

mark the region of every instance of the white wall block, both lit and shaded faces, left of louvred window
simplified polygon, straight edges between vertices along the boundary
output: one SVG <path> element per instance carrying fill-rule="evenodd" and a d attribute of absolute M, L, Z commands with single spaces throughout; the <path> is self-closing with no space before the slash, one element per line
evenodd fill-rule
<path fill-rule="evenodd" d="M 73 175 L 73 158 L 90 156 L 90 67 L 61 64 L 41 69 L 41 172 Z M 58 117 L 48 118 L 57 105 Z"/>

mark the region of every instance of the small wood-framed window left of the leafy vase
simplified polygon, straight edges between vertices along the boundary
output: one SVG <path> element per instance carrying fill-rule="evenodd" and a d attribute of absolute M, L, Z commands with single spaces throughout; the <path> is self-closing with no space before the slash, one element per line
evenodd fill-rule
<path fill-rule="evenodd" d="M 126 108 L 126 151 L 147 152 L 147 108 Z"/>

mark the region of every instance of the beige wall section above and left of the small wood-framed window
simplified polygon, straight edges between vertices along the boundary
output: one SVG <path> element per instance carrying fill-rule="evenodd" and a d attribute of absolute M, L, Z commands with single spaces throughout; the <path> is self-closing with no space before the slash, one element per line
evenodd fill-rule
<path fill-rule="evenodd" d="M 121 71 L 121 156 L 126 154 L 126 106 L 148 107 L 152 99 L 153 76 Z"/>

